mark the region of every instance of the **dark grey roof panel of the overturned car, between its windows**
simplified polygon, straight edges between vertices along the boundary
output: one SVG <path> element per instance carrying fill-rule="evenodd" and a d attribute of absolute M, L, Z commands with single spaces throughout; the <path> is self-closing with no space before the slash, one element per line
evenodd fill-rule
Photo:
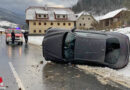
<path fill-rule="evenodd" d="M 77 33 L 75 40 L 74 59 L 85 61 L 104 62 L 105 41 L 104 35 L 91 33 Z"/>

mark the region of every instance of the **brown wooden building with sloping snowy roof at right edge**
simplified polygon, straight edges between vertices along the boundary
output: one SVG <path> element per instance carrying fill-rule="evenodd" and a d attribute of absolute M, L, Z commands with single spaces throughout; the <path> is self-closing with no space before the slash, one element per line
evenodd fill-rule
<path fill-rule="evenodd" d="M 126 8 L 118 9 L 107 13 L 99 20 L 99 26 L 101 29 L 114 29 L 123 26 L 130 25 L 130 11 Z"/>

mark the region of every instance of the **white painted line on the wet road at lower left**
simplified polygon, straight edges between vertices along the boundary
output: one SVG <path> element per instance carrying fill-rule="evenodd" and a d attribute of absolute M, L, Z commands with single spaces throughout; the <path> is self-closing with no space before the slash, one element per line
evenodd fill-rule
<path fill-rule="evenodd" d="M 20 80 L 20 78 L 19 78 L 19 76 L 18 76 L 18 74 L 17 74 L 17 72 L 16 72 L 16 70 L 15 70 L 15 68 L 14 68 L 14 66 L 11 62 L 9 62 L 9 66 L 10 66 L 10 68 L 11 68 L 13 74 L 14 74 L 16 82 L 18 83 L 18 87 L 21 88 L 22 90 L 25 90 L 25 88 L 22 84 L 22 81 Z"/>

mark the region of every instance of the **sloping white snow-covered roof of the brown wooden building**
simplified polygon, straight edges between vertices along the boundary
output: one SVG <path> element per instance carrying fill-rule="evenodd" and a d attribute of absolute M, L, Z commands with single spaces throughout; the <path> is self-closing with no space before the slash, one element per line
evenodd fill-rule
<path fill-rule="evenodd" d="M 119 14 L 121 11 L 124 11 L 124 10 L 127 10 L 127 9 L 121 8 L 121 9 L 117 9 L 115 11 L 109 12 L 109 13 L 105 14 L 104 16 L 100 17 L 100 20 L 113 18 L 114 16 L 116 16 L 117 14 Z"/>

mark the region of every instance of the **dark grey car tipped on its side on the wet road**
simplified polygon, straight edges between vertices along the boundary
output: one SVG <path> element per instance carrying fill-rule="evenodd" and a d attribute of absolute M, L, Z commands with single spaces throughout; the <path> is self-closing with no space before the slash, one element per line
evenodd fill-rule
<path fill-rule="evenodd" d="M 47 61 L 92 63 L 114 69 L 129 62 L 129 38 L 115 32 L 49 29 L 42 46 Z"/>

